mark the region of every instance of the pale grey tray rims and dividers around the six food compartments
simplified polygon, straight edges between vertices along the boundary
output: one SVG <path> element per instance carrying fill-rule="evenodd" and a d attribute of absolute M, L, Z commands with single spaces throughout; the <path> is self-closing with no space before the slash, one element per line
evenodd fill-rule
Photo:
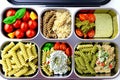
<path fill-rule="evenodd" d="M 37 6 L 34 6 L 34 7 L 30 7 L 30 6 L 28 6 L 30 9 L 34 9 L 34 10 L 36 10 L 36 13 L 38 14 L 38 33 L 37 33 L 37 35 L 36 35 L 36 37 L 35 38 L 31 38 L 31 39 L 9 39 L 9 38 L 6 38 L 5 39 L 5 42 L 6 41 L 15 41 L 15 42 L 19 42 L 19 41 L 22 41 L 22 42 L 35 42 L 35 44 L 37 44 L 37 46 L 38 46 L 38 72 L 37 72 L 37 74 L 36 74 L 36 76 L 34 76 L 34 78 L 28 78 L 28 77 L 26 77 L 26 78 L 23 78 L 23 77 L 19 77 L 19 78 L 14 78 L 14 77 L 12 77 L 12 78 L 7 78 L 7 79 L 30 79 L 30 80 L 32 80 L 32 79 L 82 79 L 82 78 L 88 78 L 88 77 L 81 77 L 81 76 L 78 76 L 77 74 L 76 74 L 76 72 L 74 71 L 74 69 L 75 69 L 75 65 L 74 65 L 74 49 L 75 49 L 75 47 L 76 47 L 76 45 L 78 44 L 78 43 L 84 43 L 84 42 L 93 42 L 93 43 L 97 43 L 97 42 L 110 42 L 110 43 L 114 43 L 114 45 L 115 45 L 115 47 L 117 47 L 117 53 L 118 53 L 118 63 L 119 63 L 119 57 L 120 57 L 120 55 L 119 55 L 119 49 L 120 49 L 120 42 L 119 42 L 119 38 L 120 38 L 120 35 L 119 35 L 119 16 L 118 16 L 118 13 L 117 13 L 117 11 L 115 10 L 115 9 L 112 9 L 112 8 L 65 8 L 65 7 L 63 7 L 63 8 L 55 8 L 55 7 L 37 7 Z M 27 7 L 27 8 L 28 8 Z M 13 8 L 13 7 L 12 7 Z M 23 7 L 14 7 L 15 9 L 17 8 L 25 8 L 24 6 Z M 6 8 L 5 8 L 6 9 Z M 8 8 L 9 9 L 9 8 Z M 69 12 L 70 12 L 70 15 L 71 15 L 71 34 L 70 34 L 70 36 L 67 38 L 67 39 L 48 39 L 48 38 L 45 38 L 45 37 L 43 37 L 43 35 L 42 35 L 42 33 L 41 33 L 41 16 L 42 16 L 42 14 L 43 14 L 43 12 L 45 12 L 46 10 L 57 10 L 57 9 L 65 9 L 65 10 L 68 10 Z M 73 9 L 73 10 L 72 10 Z M 114 17 L 114 19 L 115 19 L 115 24 L 114 24 L 114 26 L 115 26 L 115 31 L 117 31 L 117 32 L 115 32 L 114 34 L 114 36 L 112 37 L 112 38 L 105 38 L 105 39 L 102 39 L 102 38 L 98 38 L 98 39 L 82 39 L 82 38 L 79 38 L 76 34 L 75 34 L 75 15 L 76 15 L 76 13 L 78 12 L 78 11 L 80 11 L 80 10 L 103 10 L 103 11 L 108 11 L 108 10 L 110 10 L 111 12 L 113 12 L 114 13 L 114 15 L 115 15 L 115 17 Z M 3 11 L 4 12 L 4 11 Z M 103 12 L 102 12 L 103 13 Z M 2 14 L 3 15 L 3 14 Z M 2 16 L 1 15 L 1 16 Z M 113 16 L 113 15 L 112 15 Z M 0 24 L 1 26 L 3 25 L 3 23 L 1 23 Z M 2 31 L 2 27 L 0 27 L 0 30 Z M 1 34 L 1 37 L 5 37 L 4 35 L 3 35 L 3 33 Z M 42 46 L 44 45 L 44 43 L 46 43 L 46 42 L 64 42 L 64 43 L 68 43 L 70 46 L 71 46 L 71 48 L 72 48 L 72 58 L 71 58 L 71 60 L 72 60 L 72 64 L 71 64 L 71 66 L 72 66 L 72 69 L 71 69 L 71 72 L 70 72 L 70 74 L 69 74 L 69 76 L 59 76 L 59 77 L 56 77 L 56 76 L 52 76 L 52 77 L 46 77 L 46 76 L 44 76 L 43 74 L 42 74 L 42 71 L 41 71 L 41 48 L 42 48 Z M 4 45 L 4 44 L 6 44 L 6 43 L 1 43 L 0 45 L 1 45 L 1 47 L 2 47 L 2 45 Z M 2 66 L 1 66 L 2 67 Z M 0 68 L 1 68 L 0 67 Z M 116 72 L 115 72 L 115 74 L 113 74 L 113 76 L 105 76 L 105 75 L 102 75 L 102 76 L 91 76 L 91 77 L 89 77 L 89 78 L 94 78 L 94 79 L 96 79 L 96 78 L 100 78 L 100 79 L 105 79 L 105 78 L 110 78 L 110 79 L 112 79 L 112 78 L 115 78 L 115 77 L 117 77 L 119 74 L 119 64 L 117 65 L 117 67 L 118 68 L 116 68 Z M 2 69 L 2 68 L 1 68 Z M 1 70 L 0 70 L 1 71 Z M 3 77 L 3 78 L 5 78 L 4 77 L 4 75 L 3 74 L 1 74 L 1 76 Z"/>

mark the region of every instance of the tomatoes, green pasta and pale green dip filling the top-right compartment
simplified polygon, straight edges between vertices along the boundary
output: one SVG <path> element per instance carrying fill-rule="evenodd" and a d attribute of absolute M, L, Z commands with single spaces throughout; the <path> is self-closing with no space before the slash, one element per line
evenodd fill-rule
<path fill-rule="evenodd" d="M 80 10 L 75 16 L 75 33 L 82 39 L 114 38 L 118 32 L 113 10 Z"/>

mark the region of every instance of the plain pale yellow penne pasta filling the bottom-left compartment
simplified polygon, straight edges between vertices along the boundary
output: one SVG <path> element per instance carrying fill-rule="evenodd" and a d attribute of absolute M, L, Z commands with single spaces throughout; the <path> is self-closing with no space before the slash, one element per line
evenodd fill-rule
<path fill-rule="evenodd" d="M 32 77 L 38 69 L 37 46 L 30 42 L 9 42 L 1 50 L 2 73 L 6 77 Z"/>

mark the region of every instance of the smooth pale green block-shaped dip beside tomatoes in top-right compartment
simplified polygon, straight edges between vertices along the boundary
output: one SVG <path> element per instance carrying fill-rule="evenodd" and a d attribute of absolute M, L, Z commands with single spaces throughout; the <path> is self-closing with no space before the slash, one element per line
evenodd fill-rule
<path fill-rule="evenodd" d="M 112 16 L 110 14 L 95 14 L 95 16 L 97 26 L 95 37 L 111 37 L 113 34 Z"/>

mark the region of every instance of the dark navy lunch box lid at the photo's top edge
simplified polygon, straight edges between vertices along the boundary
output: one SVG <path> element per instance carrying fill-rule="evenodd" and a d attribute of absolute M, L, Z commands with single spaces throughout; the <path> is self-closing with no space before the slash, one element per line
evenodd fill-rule
<path fill-rule="evenodd" d="M 100 6 L 110 0 L 8 0 L 12 4 L 31 4 L 47 6 Z"/>

